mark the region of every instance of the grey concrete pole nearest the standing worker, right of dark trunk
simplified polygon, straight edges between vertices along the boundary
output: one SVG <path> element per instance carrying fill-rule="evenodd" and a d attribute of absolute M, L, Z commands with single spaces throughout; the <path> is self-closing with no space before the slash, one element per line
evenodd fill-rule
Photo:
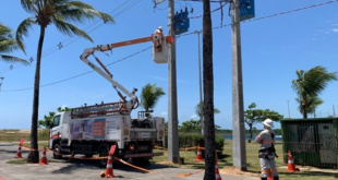
<path fill-rule="evenodd" d="M 242 81 L 242 52 L 239 0 L 232 3 L 232 142 L 233 167 L 246 170 L 243 81 Z"/>

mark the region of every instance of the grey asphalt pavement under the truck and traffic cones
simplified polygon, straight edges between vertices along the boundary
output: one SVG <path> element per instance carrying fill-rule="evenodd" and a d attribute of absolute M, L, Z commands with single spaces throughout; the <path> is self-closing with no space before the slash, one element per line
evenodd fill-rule
<path fill-rule="evenodd" d="M 0 180 L 95 180 L 101 179 L 100 172 L 105 168 L 98 167 L 96 160 L 75 159 L 67 163 L 67 158 L 55 160 L 52 154 L 47 152 L 47 159 L 51 160 L 48 165 L 7 164 L 9 160 L 15 159 L 17 144 L 0 143 Z M 28 152 L 22 149 L 22 156 L 27 157 Z M 40 153 L 41 155 L 41 153 Z M 113 167 L 113 175 L 118 179 L 138 179 L 138 180 L 201 180 L 204 171 L 188 177 L 176 177 L 177 175 L 193 173 L 196 169 L 176 168 L 165 165 L 142 165 L 142 168 L 155 171 L 155 173 L 144 172 L 123 164 L 117 164 Z M 258 178 L 221 175 L 222 180 L 258 180 Z"/>

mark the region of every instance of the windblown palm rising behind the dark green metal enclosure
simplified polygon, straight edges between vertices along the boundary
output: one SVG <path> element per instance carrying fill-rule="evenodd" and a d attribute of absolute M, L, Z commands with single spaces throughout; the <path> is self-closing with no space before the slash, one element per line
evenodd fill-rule
<path fill-rule="evenodd" d="M 323 67 L 315 67 L 309 71 L 297 70 L 297 80 L 292 81 L 292 88 L 298 94 L 300 110 L 303 119 L 307 119 L 310 109 L 310 98 L 317 97 L 330 81 L 337 80 L 336 72 L 327 72 Z"/>

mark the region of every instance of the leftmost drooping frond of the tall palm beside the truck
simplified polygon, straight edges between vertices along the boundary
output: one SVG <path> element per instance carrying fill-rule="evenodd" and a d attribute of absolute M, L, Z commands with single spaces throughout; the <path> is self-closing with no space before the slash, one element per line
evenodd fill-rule
<path fill-rule="evenodd" d="M 32 19 L 25 19 L 23 22 L 21 22 L 17 26 L 16 33 L 15 33 L 15 39 L 17 46 L 26 53 L 25 46 L 23 43 L 23 36 L 28 36 L 28 29 L 32 28 L 33 24 L 35 22 Z"/>

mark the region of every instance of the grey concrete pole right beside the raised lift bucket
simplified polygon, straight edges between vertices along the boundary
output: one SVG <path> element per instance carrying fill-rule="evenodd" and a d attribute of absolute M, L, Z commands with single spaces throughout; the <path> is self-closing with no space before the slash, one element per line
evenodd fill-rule
<path fill-rule="evenodd" d="M 169 0 L 169 35 L 174 38 L 174 7 Z M 178 96 L 176 76 L 176 43 L 168 50 L 168 161 L 179 163 Z"/>

